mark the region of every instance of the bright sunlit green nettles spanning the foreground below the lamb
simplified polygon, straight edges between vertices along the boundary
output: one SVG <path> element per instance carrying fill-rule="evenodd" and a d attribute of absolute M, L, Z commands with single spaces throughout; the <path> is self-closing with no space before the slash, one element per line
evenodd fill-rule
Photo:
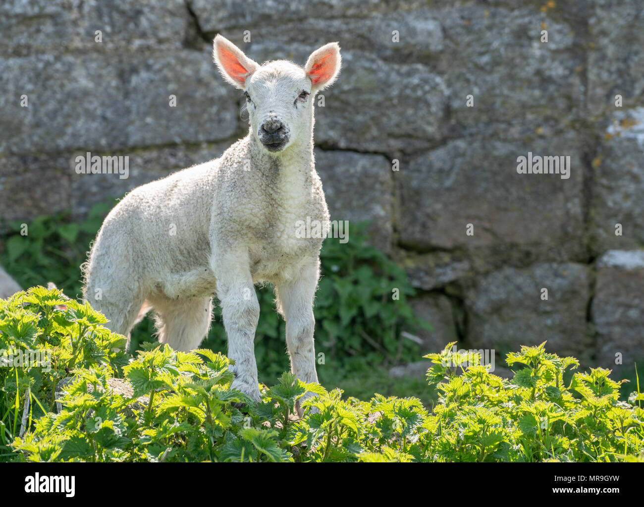
<path fill-rule="evenodd" d="M 544 344 L 507 355 L 513 379 L 489 372 L 478 354 L 453 352 L 453 343 L 428 354 L 440 393 L 430 413 L 414 397 L 345 400 L 290 373 L 254 403 L 231 389 L 222 354 L 149 343 L 128 363 L 115 351 L 124 338 L 102 323 L 88 305 L 43 287 L 0 300 L 5 358 L 7 350 L 51 353 L 46 367 L 5 360 L 0 368 L 0 459 L 644 461 L 639 381 L 629 402 L 618 401 L 609 370 L 571 372 L 578 361 Z M 297 419 L 307 391 L 317 396 Z"/>

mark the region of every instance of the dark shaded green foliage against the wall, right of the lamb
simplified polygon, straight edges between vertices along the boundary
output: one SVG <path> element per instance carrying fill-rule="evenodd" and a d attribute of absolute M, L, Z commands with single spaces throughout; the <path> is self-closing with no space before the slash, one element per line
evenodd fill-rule
<path fill-rule="evenodd" d="M 350 351 L 346 366 L 361 361 L 372 365 L 383 356 L 390 364 L 414 361 L 418 349 L 401 337 L 401 331 L 431 327 L 413 315 L 408 298 L 415 291 L 406 273 L 383 252 L 364 245 L 362 228 L 354 226 L 351 237 L 346 244 L 325 242 L 321 253 L 323 278 L 315 306 L 321 323 L 318 339 L 327 341 L 331 358 Z"/>

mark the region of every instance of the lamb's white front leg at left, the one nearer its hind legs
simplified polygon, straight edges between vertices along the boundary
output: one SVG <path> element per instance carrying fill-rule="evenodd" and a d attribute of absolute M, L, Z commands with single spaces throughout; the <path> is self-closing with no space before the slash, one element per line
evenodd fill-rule
<path fill-rule="evenodd" d="M 254 345 L 260 303 L 245 259 L 243 253 L 229 253 L 218 260 L 214 270 L 217 295 L 222 305 L 223 327 L 228 336 L 228 357 L 235 360 L 232 387 L 260 401 Z"/>

